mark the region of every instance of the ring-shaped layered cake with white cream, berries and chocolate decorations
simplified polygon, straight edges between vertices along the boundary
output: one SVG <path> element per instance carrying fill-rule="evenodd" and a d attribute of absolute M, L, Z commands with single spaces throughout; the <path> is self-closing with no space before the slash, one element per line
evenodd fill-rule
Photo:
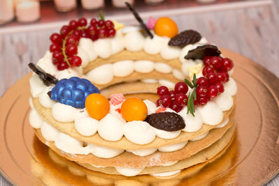
<path fill-rule="evenodd" d="M 30 78 L 29 123 L 91 171 L 177 176 L 234 138 L 233 63 L 168 17 L 140 26 L 81 18 L 50 37 Z"/>

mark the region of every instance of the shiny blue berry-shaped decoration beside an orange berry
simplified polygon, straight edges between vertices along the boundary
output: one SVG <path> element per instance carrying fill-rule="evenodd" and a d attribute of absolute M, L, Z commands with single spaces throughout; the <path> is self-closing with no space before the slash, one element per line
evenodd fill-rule
<path fill-rule="evenodd" d="M 100 91 L 87 79 L 71 77 L 70 79 L 61 79 L 56 83 L 52 88 L 50 99 L 83 109 L 86 97 L 91 93 L 100 93 Z"/>

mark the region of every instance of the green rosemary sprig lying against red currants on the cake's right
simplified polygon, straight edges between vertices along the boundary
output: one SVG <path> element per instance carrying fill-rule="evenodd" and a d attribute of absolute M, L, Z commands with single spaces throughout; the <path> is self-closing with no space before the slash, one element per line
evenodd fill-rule
<path fill-rule="evenodd" d="M 184 82 L 192 88 L 192 91 L 190 92 L 188 102 L 187 102 L 187 114 L 190 111 L 190 114 L 192 114 L 195 117 L 195 105 L 194 105 L 194 100 L 197 100 L 197 77 L 196 74 L 194 74 L 193 81 L 190 82 L 188 79 L 184 79 Z"/>

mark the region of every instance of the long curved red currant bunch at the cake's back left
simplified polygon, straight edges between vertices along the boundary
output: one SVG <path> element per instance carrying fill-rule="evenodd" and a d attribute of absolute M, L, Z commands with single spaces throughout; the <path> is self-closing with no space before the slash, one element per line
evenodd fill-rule
<path fill-rule="evenodd" d="M 52 63 L 58 70 L 69 67 L 77 67 L 82 64 L 82 59 L 77 56 L 77 45 L 80 38 L 112 38 L 115 36 L 114 24 L 110 20 L 96 20 L 93 18 L 86 28 L 87 20 L 70 20 L 68 25 L 62 26 L 60 33 L 52 33 L 50 40 L 50 52 L 52 52 Z"/>

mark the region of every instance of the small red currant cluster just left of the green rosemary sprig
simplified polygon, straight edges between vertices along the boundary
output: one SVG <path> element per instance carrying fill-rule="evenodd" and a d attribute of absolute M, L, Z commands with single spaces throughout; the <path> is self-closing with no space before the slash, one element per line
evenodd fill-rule
<path fill-rule="evenodd" d="M 184 82 L 178 82 L 174 86 L 174 91 L 169 91 L 167 86 L 159 86 L 157 94 L 159 99 L 156 102 L 157 107 L 169 107 L 170 109 L 179 112 L 186 106 L 188 97 L 188 85 Z"/>

